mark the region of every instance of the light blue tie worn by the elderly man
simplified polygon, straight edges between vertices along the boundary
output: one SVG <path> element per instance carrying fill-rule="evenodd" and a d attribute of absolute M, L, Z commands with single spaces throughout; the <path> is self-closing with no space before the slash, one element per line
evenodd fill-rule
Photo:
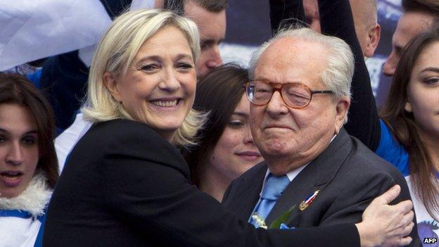
<path fill-rule="evenodd" d="M 253 213 L 257 213 L 260 215 L 260 217 L 262 217 L 262 219 L 265 220 L 267 215 L 273 209 L 274 204 L 276 204 L 277 198 L 281 196 L 282 192 L 284 192 L 284 189 L 289 183 L 290 180 L 288 177 L 286 177 L 286 175 L 276 177 L 269 173 L 264 189 L 262 190 L 261 198 L 256 204 Z M 255 227 L 259 227 L 259 224 L 253 220 L 251 215 L 248 222 L 255 225 Z"/>

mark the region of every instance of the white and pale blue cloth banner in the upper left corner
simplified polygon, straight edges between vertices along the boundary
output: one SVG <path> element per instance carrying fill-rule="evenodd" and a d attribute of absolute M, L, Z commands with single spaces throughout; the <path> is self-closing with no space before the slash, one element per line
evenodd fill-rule
<path fill-rule="evenodd" d="M 1 0 L 0 71 L 96 44 L 110 23 L 98 0 Z"/>

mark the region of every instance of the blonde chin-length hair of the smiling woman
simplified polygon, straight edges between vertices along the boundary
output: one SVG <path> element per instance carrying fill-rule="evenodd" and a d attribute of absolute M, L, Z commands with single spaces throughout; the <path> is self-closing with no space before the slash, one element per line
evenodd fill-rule
<path fill-rule="evenodd" d="M 89 73 L 89 88 L 82 113 L 91 122 L 133 118 L 115 101 L 103 82 L 105 72 L 124 75 L 136 53 L 147 39 L 164 27 L 177 27 L 186 36 L 194 63 L 200 55 L 198 28 L 192 20 L 169 11 L 139 10 L 120 15 L 103 35 L 94 53 Z M 179 146 L 195 144 L 194 136 L 205 122 L 205 115 L 191 109 L 172 142 Z"/>

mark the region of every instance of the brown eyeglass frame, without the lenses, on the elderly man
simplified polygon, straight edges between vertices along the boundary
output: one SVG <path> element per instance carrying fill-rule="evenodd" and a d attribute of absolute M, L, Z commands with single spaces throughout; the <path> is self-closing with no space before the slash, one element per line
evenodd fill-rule
<path fill-rule="evenodd" d="M 249 92 L 248 88 L 250 87 L 250 84 L 252 84 L 252 83 L 255 84 L 255 82 L 265 82 L 266 84 L 269 84 L 270 86 L 272 86 L 272 88 L 273 88 L 272 95 L 269 97 L 269 99 L 267 99 L 267 102 L 265 102 L 265 103 L 255 103 L 255 102 L 253 102 L 250 99 L 250 96 L 248 96 L 248 92 Z M 283 92 L 282 89 L 284 89 L 285 86 L 291 85 L 291 84 L 294 84 L 294 85 L 296 85 L 298 87 L 303 87 L 307 91 L 310 91 L 310 100 L 305 105 L 303 105 L 303 106 L 291 106 L 290 104 L 287 103 L 287 101 L 285 101 L 284 94 L 282 93 Z M 302 84 L 300 82 L 288 82 L 288 83 L 285 83 L 285 84 L 281 84 L 281 83 L 276 83 L 276 82 L 269 82 L 267 80 L 253 80 L 253 81 L 250 81 L 250 82 L 247 82 L 246 84 L 244 84 L 243 87 L 246 90 L 246 97 L 247 97 L 248 101 L 250 101 L 250 103 L 253 103 L 253 105 L 255 105 L 255 106 L 265 106 L 265 105 L 267 105 L 269 103 L 269 101 L 272 100 L 272 97 L 273 97 L 273 94 L 274 94 L 275 91 L 279 91 L 279 94 L 281 94 L 282 100 L 284 101 L 284 103 L 287 106 L 289 106 L 291 108 L 296 108 L 296 109 L 307 107 L 310 104 L 310 102 L 312 101 L 312 96 L 314 94 L 334 94 L 334 92 L 332 90 L 311 90 L 309 87 L 307 87 L 306 85 L 304 85 L 304 84 Z"/>

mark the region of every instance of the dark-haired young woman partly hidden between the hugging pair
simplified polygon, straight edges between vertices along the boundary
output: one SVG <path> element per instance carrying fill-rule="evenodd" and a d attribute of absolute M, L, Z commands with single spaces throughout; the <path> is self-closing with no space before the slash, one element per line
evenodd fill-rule
<path fill-rule="evenodd" d="M 197 84 L 193 108 L 209 115 L 186 161 L 193 184 L 218 201 L 233 179 L 263 160 L 250 133 L 246 82 L 248 70 L 229 63 L 213 69 Z"/>

